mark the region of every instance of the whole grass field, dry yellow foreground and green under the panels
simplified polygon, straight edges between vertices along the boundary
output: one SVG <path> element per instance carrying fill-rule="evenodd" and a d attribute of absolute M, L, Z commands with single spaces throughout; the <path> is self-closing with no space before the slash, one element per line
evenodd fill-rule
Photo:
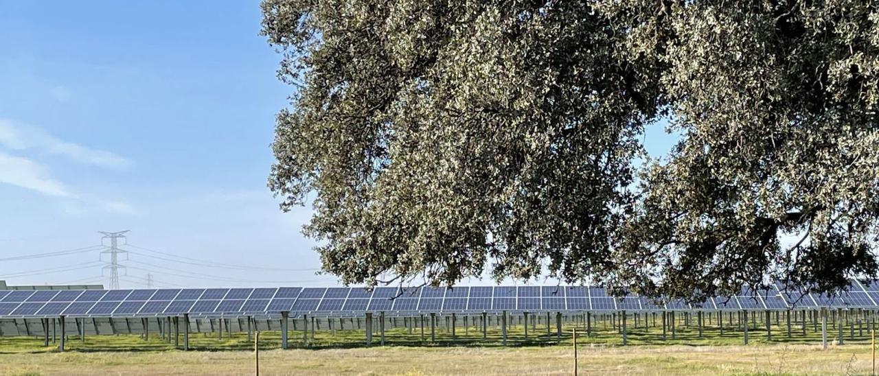
<path fill-rule="evenodd" d="M 386 346 L 363 347 L 362 330 L 318 331 L 302 342 L 301 331 L 292 332 L 291 350 L 278 350 L 279 332 L 261 333 L 260 365 L 263 374 L 571 374 L 573 350 L 570 329 L 561 343 L 547 335 L 546 327 L 521 326 L 509 331 L 507 346 L 500 343 L 496 327 L 488 338 L 476 329 L 457 329 L 452 341 L 439 329 L 436 343 L 421 343 L 418 329 L 389 329 Z M 772 341 L 765 331 L 752 328 L 751 344 L 741 345 L 743 333 L 709 327 L 699 338 L 693 327 L 681 327 L 665 341 L 661 329 L 630 329 L 629 346 L 621 346 L 619 333 L 596 324 L 592 337 L 578 336 L 581 374 L 869 374 L 871 354 L 868 332 L 854 328 L 854 341 L 823 351 L 820 334 L 797 327 L 791 338 L 784 328 L 774 328 Z M 832 331 L 835 334 L 837 331 Z M 429 338 L 429 332 L 425 333 Z M 833 336 L 831 336 L 833 339 Z M 0 373 L 3 374 L 252 374 L 253 343 L 246 334 L 233 333 L 221 340 L 214 335 L 190 336 L 195 351 L 175 350 L 157 335 L 149 341 L 139 336 L 89 336 L 83 343 L 70 336 L 69 351 L 43 347 L 35 337 L 0 337 Z M 374 343 L 380 338 L 376 334 Z M 429 341 L 428 341 L 429 342 Z"/>

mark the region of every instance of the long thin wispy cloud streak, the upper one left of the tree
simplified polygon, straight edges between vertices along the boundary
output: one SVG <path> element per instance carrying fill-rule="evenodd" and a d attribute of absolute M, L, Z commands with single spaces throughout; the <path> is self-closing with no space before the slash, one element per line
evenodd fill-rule
<path fill-rule="evenodd" d="M 63 155 L 79 163 L 102 167 L 124 168 L 132 163 L 127 158 L 105 150 L 97 150 L 63 141 L 38 128 L 11 119 L 0 119 L 0 145 L 12 150 L 39 149 Z"/>

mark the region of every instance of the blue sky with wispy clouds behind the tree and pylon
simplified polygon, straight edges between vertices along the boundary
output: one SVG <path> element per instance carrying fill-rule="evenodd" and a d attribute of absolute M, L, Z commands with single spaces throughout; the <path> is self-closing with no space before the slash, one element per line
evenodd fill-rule
<path fill-rule="evenodd" d="M 275 77 L 280 57 L 259 17 L 257 1 L 0 0 L 0 258 L 129 229 L 131 244 L 197 264 L 316 269 L 300 233 L 309 210 L 280 213 L 265 188 L 274 115 L 291 89 Z M 654 155 L 672 141 L 661 127 L 644 139 Z M 122 286 L 142 287 L 150 272 L 157 286 L 336 282 L 141 252 Z M 105 283 L 99 264 L 40 273 L 97 260 L 0 261 L 0 279 Z"/>

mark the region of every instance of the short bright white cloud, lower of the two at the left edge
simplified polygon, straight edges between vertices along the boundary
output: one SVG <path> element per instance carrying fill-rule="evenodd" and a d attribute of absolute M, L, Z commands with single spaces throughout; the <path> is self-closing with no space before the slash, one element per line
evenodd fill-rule
<path fill-rule="evenodd" d="M 76 198 L 67 186 L 49 177 L 48 170 L 40 163 L 3 152 L 0 152 L 0 183 L 17 185 L 49 196 Z"/>

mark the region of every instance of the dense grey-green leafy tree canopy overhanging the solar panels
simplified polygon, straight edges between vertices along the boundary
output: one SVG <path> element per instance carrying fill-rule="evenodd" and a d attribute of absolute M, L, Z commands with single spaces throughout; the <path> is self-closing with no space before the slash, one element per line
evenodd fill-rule
<path fill-rule="evenodd" d="M 270 189 L 345 283 L 873 276 L 879 4 L 264 0 Z M 681 134 L 651 159 L 645 127 Z"/>

